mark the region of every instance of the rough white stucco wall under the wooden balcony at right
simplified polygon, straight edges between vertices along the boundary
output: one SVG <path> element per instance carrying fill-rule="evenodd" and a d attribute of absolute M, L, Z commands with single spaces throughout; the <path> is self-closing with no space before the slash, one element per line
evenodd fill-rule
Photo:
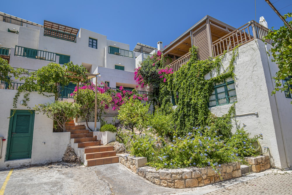
<path fill-rule="evenodd" d="M 231 52 L 230 52 L 231 53 Z M 223 60 L 223 67 L 227 67 L 230 55 L 227 54 Z M 276 69 L 277 65 L 273 64 Z M 275 69 L 272 70 L 275 72 Z M 221 71 L 222 72 L 222 71 Z M 286 157 L 284 152 L 284 144 L 279 127 L 279 119 L 277 119 L 277 109 L 275 102 L 271 96 L 273 83 L 268 71 L 267 57 L 265 55 L 265 44 L 261 40 L 252 41 L 239 47 L 239 54 L 235 61 L 235 88 L 237 94 L 237 103 L 235 104 L 237 122 L 234 122 L 234 130 L 236 125 L 242 127 L 246 125 L 246 130 L 255 134 L 263 133 L 263 140 L 259 140 L 261 146 L 269 147 L 272 165 L 277 168 L 286 168 Z M 215 75 L 215 72 L 213 72 Z M 206 79 L 210 75 L 205 76 Z M 289 107 L 290 101 L 285 101 L 283 107 Z M 211 112 L 216 115 L 227 113 L 232 104 L 216 106 L 210 108 Z M 291 127 L 291 108 L 283 110 L 283 114 L 287 114 L 285 122 Z M 255 114 L 255 113 L 258 114 Z M 290 120 L 287 117 L 290 116 Z M 291 132 L 291 128 L 289 129 Z M 287 129 L 288 132 L 288 129 Z M 288 136 L 288 138 L 290 138 Z M 291 138 L 290 138 L 291 140 Z M 291 146 L 290 151 L 292 150 Z"/>

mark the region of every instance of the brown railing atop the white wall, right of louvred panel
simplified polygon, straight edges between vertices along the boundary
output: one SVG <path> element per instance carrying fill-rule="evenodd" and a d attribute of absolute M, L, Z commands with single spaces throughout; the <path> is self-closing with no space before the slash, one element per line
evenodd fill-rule
<path fill-rule="evenodd" d="M 252 20 L 231 33 L 221 37 L 212 43 L 213 57 L 220 56 L 224 51 L 231 51 L 238 45 L 251 42 L 254 39 L 262 39 L 269 29 Z M 265 40 L 271 44 L 272 40 Z"/>

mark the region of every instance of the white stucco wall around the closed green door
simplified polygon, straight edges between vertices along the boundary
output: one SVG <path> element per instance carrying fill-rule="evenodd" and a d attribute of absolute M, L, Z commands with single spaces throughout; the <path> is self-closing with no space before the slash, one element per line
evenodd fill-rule
<path fill-rule="evenodd" d="M 70 132 L 53 133 L 53 120 L 46 115 L 35 114 L 34 129 L 32 139 L 32 157 L 30 159 L 19 159 L 5 161 L 9 119 L 11 109 L 13 109 L 13 98 L 16 90 L 0 89 L 2 101 L 0 104 L 0 137 L 4 137 L 2 156 L 0 158 L 0 169 L 31 165 L 39 163 L 49 163 L 62 161 L 62 156 L 70 142 Z M 34 107 L 35 104 L 48 103 L 54 101 L 53 97 L 46 97 L 37 92 L 30 93 L 28 106 Z M 20 105 L 23 94 L 20 94 L 17 103 L 18 110 L 27 110 L 26 106 Z M 45 142 L 45 143 L 43 143 Z"/>

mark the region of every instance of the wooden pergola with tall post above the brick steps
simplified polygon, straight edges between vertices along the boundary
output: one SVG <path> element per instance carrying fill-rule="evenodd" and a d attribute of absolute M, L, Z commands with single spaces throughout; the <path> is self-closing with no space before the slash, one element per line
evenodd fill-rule
<path fill-rule="evenodd" d="M 72 71 L 69 71 L 69 70 L 66 70 L 65 73 L 70 73 L 70 74 L 73 74 L 73 75 L 65 75 L 65 77 L 68 77 L 68 78 L 72 78 L 72 79 L 77 79 L 77 96 L 78 96 L 78 92 L 79 92 L 79 82 L 81 81 L 84 81 L 84 80 L 89 80 L 89 79 L 92 79 L 95 77 L 95 81 L 97 81 L 97 76 L 100 74 L 91 74 L 91 73 L 84 73 L 86 75 L 86 79 L 84 79 L 84 77 L 79 77 L 79 76 L 74 76 L 76 75 L 77 73 L 75 72 L 72 72 Z M 76 80 L 71 80 L 73 82 L 76 82 Z M 97 122 L 97 117 L 96 117 L 96 112 L 97 112 L 97 82 L 95 82 L 95 116 L 94 116 L 94 130 L 96 129 L 96 122 Z"/>

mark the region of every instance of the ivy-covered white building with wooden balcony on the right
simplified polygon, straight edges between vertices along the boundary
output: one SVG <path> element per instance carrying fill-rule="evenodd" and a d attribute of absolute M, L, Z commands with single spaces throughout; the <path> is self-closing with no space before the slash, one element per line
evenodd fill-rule
<path fill-rule="evenodd" d="M 189 61 L 189 49 L 193 45 L 198 48 L 199 60 L 220 56 L 224 50 L 231 51 L 239 45 L 234 62 L 235 79 L 215 85 L 208 107 L 221 116 L 236 102 L 234 130 L 237 125 L 245 124 L 251 136 L 262 133 L 263 140 L 259 142 L 264 155 L 270 156 L 271 165 L 289 169 L 292 165 L 292 96 L 289 92 L 271 95 L 275 88 L 272 77 L 279 69 L 267 54 L 271 41 L 266 40 L 267 44 L 262 41 L 267 32 L 266 27 L 253 20 L 236 29 L 206 15 L 169 45 L 159 47 L 163 48 L 164 55 L 173 59 L 168 63 L 177 71 Z M 222 60 L 225 69 L 231 53 Z M 212 73 L 216 74 L 216 71 Z M 205 75 L 205 79 L 210 79 L 210 75 Z"/>

